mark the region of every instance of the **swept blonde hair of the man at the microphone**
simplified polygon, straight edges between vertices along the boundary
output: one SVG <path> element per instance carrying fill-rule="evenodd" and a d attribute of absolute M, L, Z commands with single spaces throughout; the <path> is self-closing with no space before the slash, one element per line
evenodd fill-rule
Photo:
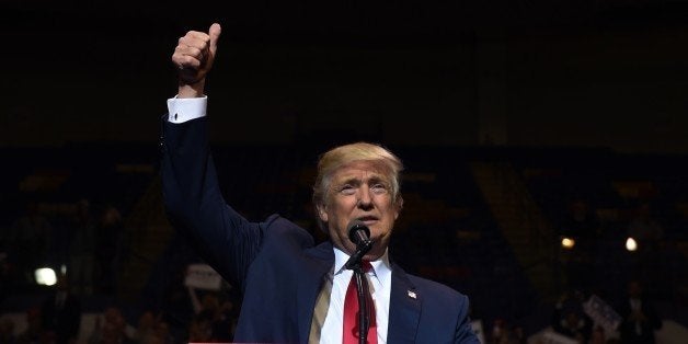
<path fill-rule="evenodd" d="M 335 147 L 320 156 L 316 182 L 313 183 L 312 200 L 316 207 L 326 204 L 328 191 L 334 172 L 354 161 L 381 162 L 391 183 L 392 203 L 401 204 L 400 173 L 403 170 L 401 159 L 380 145 L 355 142 Z M 320 220 L 319 222 L 322 228 L 324 223 Z"/>

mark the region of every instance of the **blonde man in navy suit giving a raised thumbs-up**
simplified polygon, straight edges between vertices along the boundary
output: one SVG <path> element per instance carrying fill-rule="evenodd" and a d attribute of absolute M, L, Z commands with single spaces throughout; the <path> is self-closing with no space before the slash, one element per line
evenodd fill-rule
<path fill-rule="evenodd" d="M 375 316 L 368 343 L 479 343 L 468 298 L 435 282 L 409 275 L 388 252 L 403 199 L 401 161 L 379 145 L 357 142 L 325 152 L 318 164 L 313 203 L 329 241 L 314 244 L 308 231 L 273 215 L 245 219 L 220 194 L 208 148 L 206 74 L 213 67 L 219 24 L 179 39 L 172 61 L 179 93 L 163 119 L 162 167 L 171 221 L 228 282 L 243 293 L 234 341 L 251 343 L 343 343 L 352 271 L 357 249 L 348 238 L 353 220 L 374 244 L 363 256 Z"/>

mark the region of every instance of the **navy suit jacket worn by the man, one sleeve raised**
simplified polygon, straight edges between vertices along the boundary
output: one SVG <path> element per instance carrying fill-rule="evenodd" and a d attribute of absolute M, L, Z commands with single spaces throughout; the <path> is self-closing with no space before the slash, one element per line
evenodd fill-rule
<path fill-rule="evenodd" d="M 167 119 L 167 117 L 165 117 Z M 206 118 L 163 123 L 163 195 L 171 221 L 243 291 L 234 341 L 307 343 L 316 298 L 334 265 L 332 244 L 273 215 L 251 222 L 225 203 Z M 479 343 L 468 298 L 392 265 L 388 343 Z"/>

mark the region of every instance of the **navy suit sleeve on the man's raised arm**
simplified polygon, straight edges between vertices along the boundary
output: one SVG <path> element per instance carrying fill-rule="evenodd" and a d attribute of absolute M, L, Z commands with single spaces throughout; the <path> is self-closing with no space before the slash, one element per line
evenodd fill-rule
<path fill-rule="evenodd" d="M 210 154 L 207 117 L 173 124 L 162 118 L 160 173 L 173 227 L 225 279 L 244 290 L 260 250 L 261 226 L 227 205 Z"/>

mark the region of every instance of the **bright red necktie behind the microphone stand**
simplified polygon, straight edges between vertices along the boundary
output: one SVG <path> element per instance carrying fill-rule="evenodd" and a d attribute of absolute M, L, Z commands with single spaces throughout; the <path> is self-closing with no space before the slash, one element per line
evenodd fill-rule
<path fill-rule="evenodd" d="M 363 262 L 363 271 L 365 273 L 372 268 L 370 262 Z M 365 276 L 364 276 L 365 278 Z M 377 344 L 377 324 L 375 321 L 375 303 L 370 291 L 365 291 L 368 305 L 368 314 L 370 316 L 370 326 L 368 329 L 368 344 Z M 356 294 L 356 276 L 352 275 L 352 279 L 346 288 L 346 297 L 344 298 L 344 332 L 343 344 L 358 344 L 358 296 Z"/>

